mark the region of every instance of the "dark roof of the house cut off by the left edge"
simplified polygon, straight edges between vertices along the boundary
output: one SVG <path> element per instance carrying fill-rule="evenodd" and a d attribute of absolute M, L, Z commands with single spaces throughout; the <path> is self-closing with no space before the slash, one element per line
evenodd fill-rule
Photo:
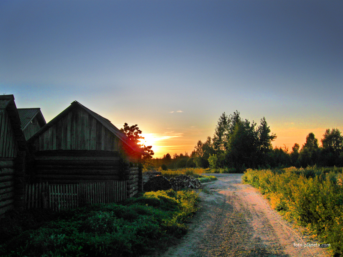
<path fill-rule="evenodd" d="M 4 111 L 8 113 L 19 150 L 27 151 L 26 140 L 21 129 L 21 122 L 13 95 L 0 95 L 0 113 Z"/>

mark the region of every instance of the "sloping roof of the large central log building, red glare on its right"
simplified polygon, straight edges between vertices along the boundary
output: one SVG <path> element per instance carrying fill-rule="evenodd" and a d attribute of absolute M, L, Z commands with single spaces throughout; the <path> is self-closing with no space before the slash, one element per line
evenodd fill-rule
<path fill-rule="evenodd" d="M 33 141 L 37 138 L 40 134 L 47 131 L 52 125 L 56 124 L 60 119 L 65 117 L 69 112 L 71 112 L 74 108 L 82 108 L 87 113 L 89 113 L 92 117 L 94 117 L 98 122 L 100 122 L 106 129 L 108 129 L 111 133 L 117 136 L 125 145 L 127 145 L 131 150 L 134 152 L 139 152 L 142 155 L 147 155 L 138 145 L 132 144 L 129 138 L 122 133 L 115 125 L 113 125 L 108 119 L 102 117 L 101 115 L 93 112 L 92 110 L 88 109 L 87 107 L 81 105 L 78 101 L 73 101 L 69 107 L 67 107 L 64 111 L 58 114 L 54 119 L 49 121 L 45 126 L 42 127 L 36 134 L 34 134 L 31 138 L 28 139 L 28 142 Z"/>

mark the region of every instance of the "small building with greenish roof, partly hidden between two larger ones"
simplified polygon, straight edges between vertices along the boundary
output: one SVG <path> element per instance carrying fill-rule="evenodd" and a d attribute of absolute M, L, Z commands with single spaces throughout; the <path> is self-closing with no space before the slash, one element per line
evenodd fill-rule
<path fill-rule="evenodd" d="M 26 140 L 46 124 L 40 108 L 19 108 L 17 111 Z"/>

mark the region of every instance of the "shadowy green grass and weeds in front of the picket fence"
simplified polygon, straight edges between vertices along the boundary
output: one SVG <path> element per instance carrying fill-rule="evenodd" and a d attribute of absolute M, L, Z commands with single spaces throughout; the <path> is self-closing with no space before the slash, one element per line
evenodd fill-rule
<path fill-rule="evenodd" d="M 147 192 L 122 204 L 47 212 L 50 216 L 36 211 L 42 216 L 40 219 L 34 213 L 27 213 L 26 217 L 13 214 L 1 220 L 0 256 L 149 254 L 186 233 L 186 224 L 197 210 L 197 200 L 194 191 L 168 190 Z"/>

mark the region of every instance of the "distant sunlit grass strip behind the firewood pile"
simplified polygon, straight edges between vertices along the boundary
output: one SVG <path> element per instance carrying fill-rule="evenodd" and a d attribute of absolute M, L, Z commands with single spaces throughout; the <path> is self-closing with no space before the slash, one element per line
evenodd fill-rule
<path fill-rule="evenodd" d="M 167 179 L 174 178 L 179 175 L 191 175 L 194 178 L 198 178 L 201 183 L 209 182 L 212 180 L 217 180 L 215 176 L 209 175 L 200 175 L 203 173 L 214 173 L 210 172 L 210 169 L 203 169 L 203 168 L 183 168 L 183 169 L 176 169 L 176 170 L 159 170 L 162 172 L 162 175 L 165 176 Z"/>

